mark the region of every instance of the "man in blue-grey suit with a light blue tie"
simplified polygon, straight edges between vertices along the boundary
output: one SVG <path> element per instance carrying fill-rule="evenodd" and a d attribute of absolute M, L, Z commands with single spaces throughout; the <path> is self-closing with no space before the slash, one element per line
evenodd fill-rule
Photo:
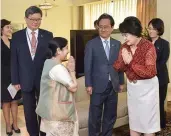
<path fill-rule="evenodd" d="M 118 91 L 123 89 L 124 74 L 112 66 L 120 49 L 120 42 L 110 38 L 113 26 L 112 16 L 102 14 L 98 19 L 99 36 L 89 41 L 85 49 L 85 84 L 90 94 L 89 136 L 99 136 L 101 121 L 102 136 L 112 136 L 117 117 Z"/>

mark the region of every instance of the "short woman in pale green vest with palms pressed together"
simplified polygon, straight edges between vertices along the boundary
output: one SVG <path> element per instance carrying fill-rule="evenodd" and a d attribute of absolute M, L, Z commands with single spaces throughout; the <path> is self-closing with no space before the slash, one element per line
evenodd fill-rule
<path fill-rule="evenodd" d="M 36 112 L 41 117 L 40 130 L 47 136 L 78 135 L 74 58 L 69 58 L 66 67 L 62 65 L 68 54 L 67 44 L 68 41 L 62 37 L 55 37 L 49 42 L 51 57 L 45 61 L 42 72 Z"/>

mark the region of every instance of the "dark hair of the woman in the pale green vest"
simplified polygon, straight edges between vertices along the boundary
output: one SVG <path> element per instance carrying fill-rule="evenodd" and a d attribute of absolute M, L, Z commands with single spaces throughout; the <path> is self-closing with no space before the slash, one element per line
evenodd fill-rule
<path fill-rule="evenodd" d="M 54 37 L 50 42 L 49 42 L 49 53 L 48 53 L 48 58 L 52 58 L 56 55 L 56 50 L 57 48 L 63 49 L 65 46 L 67 46 L 68 40 L 63 38 L 63 37 Z"/>

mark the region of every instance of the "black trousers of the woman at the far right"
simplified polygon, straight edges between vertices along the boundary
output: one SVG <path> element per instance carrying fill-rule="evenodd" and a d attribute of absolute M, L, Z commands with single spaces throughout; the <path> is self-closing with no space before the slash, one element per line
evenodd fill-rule
<path fill-rule="evenodd" d="M 168 84 L 159 86 L 159 98 L 160 98 L 160 126 L 161 128 L 166 127 L 166 112 L 164 110 L 164 101 L 167 95 Z"/>

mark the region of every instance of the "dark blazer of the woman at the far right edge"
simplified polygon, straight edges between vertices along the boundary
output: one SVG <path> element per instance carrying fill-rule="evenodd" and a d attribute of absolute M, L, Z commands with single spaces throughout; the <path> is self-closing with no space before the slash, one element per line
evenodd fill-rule
<path fill-rule="evenodd" d="M 159 85 L 168 84 L 169 74 L 166 62 L 170 55 L 169 42 L 159 37 L 154 45 L 157 53 L 157 77 L 159 79 Z"/>

